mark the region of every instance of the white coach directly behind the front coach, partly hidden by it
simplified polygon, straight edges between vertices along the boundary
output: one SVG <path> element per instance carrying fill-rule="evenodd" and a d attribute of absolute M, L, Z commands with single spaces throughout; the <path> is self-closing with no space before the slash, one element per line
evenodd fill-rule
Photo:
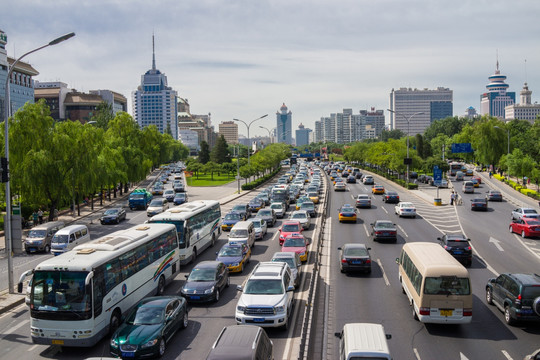
<path fill-rule="evenodd" d="M 215 200 L 197 200 L 154 215 L 149 223 L 174 224 L 178 232 L 180 264 L 195 260 L 206 248 L 214 246 L 221 234 L 221 208 Z"/>

